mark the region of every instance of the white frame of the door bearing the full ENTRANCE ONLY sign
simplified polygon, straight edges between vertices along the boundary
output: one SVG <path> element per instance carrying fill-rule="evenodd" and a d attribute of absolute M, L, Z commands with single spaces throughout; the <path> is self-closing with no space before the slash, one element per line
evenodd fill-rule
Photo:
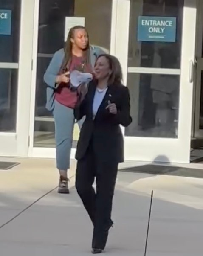
<path fill-rule="evenodd" d="M 118 9 L 120 15 L 116 25 L 118 31 L 116 56 L 121 61 L 124 71 L 124 83 L 127 82 L 127 73 L 180 74 L 178 138 L 125 137 L 125 160 L 189 163 L 195 63 L 196 1 L 184 1 L 181 65 L 179 70 L 127 67 L 130 0 L 118 0 Z M 122 37 L 119 37 L 119 31 L 122 31 Z"/>

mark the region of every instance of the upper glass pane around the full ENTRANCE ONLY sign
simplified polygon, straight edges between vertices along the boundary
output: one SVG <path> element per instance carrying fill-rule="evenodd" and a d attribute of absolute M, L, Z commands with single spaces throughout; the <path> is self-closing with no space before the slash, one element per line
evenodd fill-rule
<path fill-rule="evenodd" d="M 180 68 L 184 0 L 131 0 L 129 67 Z M 177 17 L 175 43 L 138 42 L 138 16 Z"/>

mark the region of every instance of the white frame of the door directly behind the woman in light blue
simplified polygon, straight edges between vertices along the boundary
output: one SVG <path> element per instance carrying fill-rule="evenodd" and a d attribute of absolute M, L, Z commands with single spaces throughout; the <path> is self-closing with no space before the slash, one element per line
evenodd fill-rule
<path fill-rule="evenodd" d="M 34 119 L 35 119 L 35 95 L 36 95 L 36 75 L 37 75 L 37 46 L 38 46 L 38 24 L 39 24 L 39 1 L 34 0 L 34 28 L 33 28 L 33 49 L 32 49 L 32 75 L 31 75 L 31 99 L 30 99 L 30 128 L 29 128 L 29 157 L 55 158 L 55 148 L 34 147 Z M 117 22 L 118 0 L 112 0 L 111 16 L 111 41 L 110 53 L 115 55 L 116 52 L 116 22 Z M 72 148 L 71 158 L 75 158 L 76 149 Z"/>

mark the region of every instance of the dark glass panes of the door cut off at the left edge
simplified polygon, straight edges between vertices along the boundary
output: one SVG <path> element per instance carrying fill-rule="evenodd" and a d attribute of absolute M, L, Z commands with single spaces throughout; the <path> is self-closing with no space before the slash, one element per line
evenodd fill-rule
<path fill-rule="evenodd" d="M 11 35 L 0 35 L 0 62 L 18 63 L 20 0 L 1 0 L 1 10 L 11 10 Z M 0 69 L 0 132 L 16 131 L 18 69 Z"/>

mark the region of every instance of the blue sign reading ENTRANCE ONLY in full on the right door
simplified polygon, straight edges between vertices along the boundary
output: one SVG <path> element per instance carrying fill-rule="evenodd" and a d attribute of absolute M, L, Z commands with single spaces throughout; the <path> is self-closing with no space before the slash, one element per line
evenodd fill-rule
<path fill-rule="evenodd" d="M 138 41 L 175 42 L 176 17 L 138 17 Z"/>

